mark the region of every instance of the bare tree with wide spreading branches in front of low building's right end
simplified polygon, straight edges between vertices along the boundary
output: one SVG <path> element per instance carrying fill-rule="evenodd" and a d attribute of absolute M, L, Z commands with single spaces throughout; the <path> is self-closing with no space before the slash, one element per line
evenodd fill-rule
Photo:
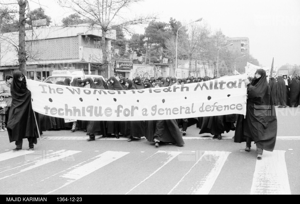
<path fill-rule="evenodd" d="M 130 31 L 129 26 L 148 23 L 155 19 L 154 15 L 128 17 L 129 6 L 142 0 L 58 0 L 63 7 L 69 8 L 88 21 L 91 26 L 98 25 L 102 31 L 102 67 L 108 70 L 107 32 L 116 28 Z M 126 11 L 125 13 L 124 11 Z"/>

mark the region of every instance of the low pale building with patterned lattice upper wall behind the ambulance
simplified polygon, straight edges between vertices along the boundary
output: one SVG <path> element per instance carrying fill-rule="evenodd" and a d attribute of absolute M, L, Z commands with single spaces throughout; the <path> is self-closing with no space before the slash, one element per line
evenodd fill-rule
<path fill-rule="evenodd" d="M 18 32 L 3 33 L 0 38 L 0 80 L 12 75 L 18 67 Z M 102 31 L 100 27 L 77 24 L 70 27 L 33 28 L 26 31 L 27 78 L 48 77 L 53 70 L 83 69 L 86 74 L 111 76 L 113 68 L 101 69 Z M 107 32 L 107 50 L 111 40 L 116 40 L 116 31 Z M 108 54 L 110 60 L 110 54 Z M 100 71 L 101 70 L 101 71 Z"/>

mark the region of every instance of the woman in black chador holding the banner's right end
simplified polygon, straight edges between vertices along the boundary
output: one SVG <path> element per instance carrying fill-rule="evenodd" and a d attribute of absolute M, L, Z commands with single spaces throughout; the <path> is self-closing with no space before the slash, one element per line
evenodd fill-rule
<path fill-rule="evenodd" d="M 262 159 L 263 149 L 273 151 L 277 135 L 277 118 L 266 72 L 257 69 L 255 77 L 246 80 L 247 110 L 246 119 L 238 115 L 234 142 L 245 142 L 245 151 L 249 152 L 251 141 L 256 144 L 257 159 Z"/>

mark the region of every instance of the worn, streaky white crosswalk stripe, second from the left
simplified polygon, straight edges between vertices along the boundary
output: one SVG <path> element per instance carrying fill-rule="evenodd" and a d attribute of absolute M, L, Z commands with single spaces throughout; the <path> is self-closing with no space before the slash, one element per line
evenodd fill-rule
<path fill-rule="evenodd" d="M 10 175 L 4 176 L 4 177 L 0 178 L 0 180 L 2 180 L 4 178 L 11 177 L 11 176 L 16 175 L 18 173 L 22 173 L 22 172 L 31 170 L 33 168 L 37 168 L 37 167 L 42 166 L 44 164 L 47 164 L 47 163 L 50 163 L 50 162 L 53 162 L 53 161 L 56 161 L 56 160 L 59 160 L 59 159 L 63 159 L 65 157 L 71 156 L 71 155 L 76 154 L 78 152 L 81 152 L 81 151 L 73 151 L 73 150 L 63 149 L 63 150 L 60 150 L 60 151 L 57 151 L 57 152 L 53 152 L 53 153 L 50 153 L 50 154 L 43 155 L 42 157 L 45 157 L 45 158 L 42 158 L 42 159 L 39 159 L 39 160 L 36 160 L 36 161 L 32 161 L 32 162 L 29 162 L 29 163 L 25 162 L 25 164 L 23 164 L 21 166 L 17 166 L 15 168 L 10 168 L 10 169 L 7 169 L 5 171 L 0 172 L 0 174 L 1 174 L 1 173 L 11 171 L 11 170 L 14 170 L 14 169 L 17 169 L 17 168 L 22 168 L 17 173 L 12 173 Z M 40 157 L 41 155 L 30 155 L 30 156 L 39 156 Z M 36 158 L 34 158 L 34 159 L 36 159 Z M 29 166 L 24 168 L 24 166 L 27 166 L 27 165 L 29 165 Z"/>

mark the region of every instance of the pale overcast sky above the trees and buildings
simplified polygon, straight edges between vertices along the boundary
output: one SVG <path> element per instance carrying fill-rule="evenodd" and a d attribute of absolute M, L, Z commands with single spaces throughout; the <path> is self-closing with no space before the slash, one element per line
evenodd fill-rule
<path fill-rule="evenodd" d="M 72 12 L 54 0 L 29 0 L 30 9 L 45 9 L 53 22 L 60 24 Z M 221 29 L 228 37 L 248 37 L 250 54 L 263 66 L 300 65 L 300 1 L 299 0 L 145 0 L 132 8 L 132 13 L 157 13 L 157 21 L 170 17 L 191 22 L 200 17 L 211 27 Z M 143 33 L 144 27 L 136 28 Z"/>

